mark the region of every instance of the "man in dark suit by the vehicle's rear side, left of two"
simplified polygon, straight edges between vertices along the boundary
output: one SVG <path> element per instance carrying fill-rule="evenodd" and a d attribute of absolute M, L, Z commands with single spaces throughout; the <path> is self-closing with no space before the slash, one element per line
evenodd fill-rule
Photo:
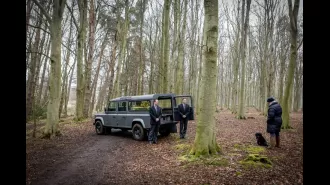
<path fill-rule="evenodd" d="M 153 106 L 149 109 L 150 125 L 148 140 L 149 144 L 157 143 L 158 129 L 160 125 L 160 119 L 162 117 L 162 108 L 158 106 L 158 100 L 154 100 Z"/>

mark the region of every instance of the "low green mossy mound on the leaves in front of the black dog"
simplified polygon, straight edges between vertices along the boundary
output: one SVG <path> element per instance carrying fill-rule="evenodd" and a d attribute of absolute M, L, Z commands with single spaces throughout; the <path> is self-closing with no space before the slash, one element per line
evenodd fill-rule
<path fill-rule="evenodd" d="M 244 160 L 239 162 L 245 168 L 264 167 L 271 168 L 273 163 L 265 155 L 249 154 Z"/>

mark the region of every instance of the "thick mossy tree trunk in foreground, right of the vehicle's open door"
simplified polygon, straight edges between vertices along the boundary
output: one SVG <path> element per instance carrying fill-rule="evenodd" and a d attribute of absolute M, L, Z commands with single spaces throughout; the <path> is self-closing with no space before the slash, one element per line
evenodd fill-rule
<path fill-rule="evenodd" d="M 220 152 L 215 136 L 215 111 L 218 52 L 218 0 L 204 0 L 204 47 L 200 98 L 200 115 L 190 154 L 212 155 Z"/>

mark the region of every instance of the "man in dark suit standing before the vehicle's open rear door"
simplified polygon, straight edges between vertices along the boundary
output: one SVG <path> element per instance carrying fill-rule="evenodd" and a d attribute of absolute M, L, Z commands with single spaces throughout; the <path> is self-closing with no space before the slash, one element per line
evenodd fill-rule
<path fill-rule="evenodd" d="M 180 113 L 180 139 L 184 139 L 187 132 L 188 117 L 190 114 L 190 106 L 186 103 L 187 99 L 182 99 L 182 103 L 178 106 Z"/>

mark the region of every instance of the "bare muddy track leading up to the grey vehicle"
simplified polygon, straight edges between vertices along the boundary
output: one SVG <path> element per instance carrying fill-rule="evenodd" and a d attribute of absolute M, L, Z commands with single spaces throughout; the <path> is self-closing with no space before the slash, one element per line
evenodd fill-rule
<path fill-rule="evenodd" d="M 80 143 L 79 147 L 43 169 L 31 184 L 103 184 L 105 178 L 111 181 L 118 178 L 120 168 L 125 165 L 120 153 L 128 150 L 134 142 L 129 132 L 93 133 L 87 142 Z M 107 169 L 112 169 L 111 173 Z"/>

